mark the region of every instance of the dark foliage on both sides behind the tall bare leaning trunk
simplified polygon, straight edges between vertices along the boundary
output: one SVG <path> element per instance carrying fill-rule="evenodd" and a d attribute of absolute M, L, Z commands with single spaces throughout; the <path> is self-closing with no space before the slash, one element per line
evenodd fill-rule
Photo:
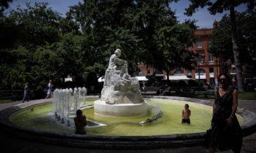
<path fill-rule="evenodd" d="M 256 26 L 256 14 L 255 11 L 246 11 L 242 13 L 236 12 L 237 16 L 237 33 L 238 33 L 238 43 L 240 44 L 240 61 L 243 68 L 251 69 L 249 72 L 253 76 L 253 69 L 255 69 L 255 26 Z M 212 52 L 214 56 L 221 56 L 225 61 L 233 60 L 233 50 L 232 50 L 232 39 L 231 39 L 231 23 L 229 16 L 225 15 L 219 22 L 215 22 L 214 31 L 212 34 L 213 42 L 208 49 Z M 250 66 L 246 66 L 250 65 Z M 246 75 L 243 70 L 243 75 Z M 247 73 L 248 74 L 248 73 Z"/>

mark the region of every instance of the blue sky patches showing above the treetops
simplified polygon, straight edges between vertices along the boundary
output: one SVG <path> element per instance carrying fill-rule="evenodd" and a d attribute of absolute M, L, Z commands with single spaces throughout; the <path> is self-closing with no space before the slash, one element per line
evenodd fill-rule
<path fill-rule="evenodd" d="M 48 7 L 52 7 L 53 10 L 65 16 L 66 12 L 69 10 L 69 6 L 76 5 L 79 1 L 83 2 L 83 0 L 13 0 L 10 3 L 10 8 L 8 10 L 15 10 L 18 5 L 20 7 L 25 8 L 25 3 L 29 2 L 31 5 L 35 2 L 47 2 Z M 180 0 L 177 3 L 171 3 L 171 10 L 175 11 L 175 16 L 177 16 L 177 20 L 180 22 L 184 22 L 186 19 L 195 19 L 197 20 L 197 26 L 199 28 L 212 28 L 214 20 L 219 21 L 224 16 L 224 14 L 229 14 L 229 12 L 218 13 L 215 16 L 209 14 L 207 7 L 201 9 L 199 8 L 193 16 L 184 15 L 185 8 L 188 7 L 190 1 L 188 0 Z M 8 11 L 7 10 L 7 11 Z M 240 5 L 236 7 L 238 12 L 244 12 L 246 10 L 246 5 Z"/>

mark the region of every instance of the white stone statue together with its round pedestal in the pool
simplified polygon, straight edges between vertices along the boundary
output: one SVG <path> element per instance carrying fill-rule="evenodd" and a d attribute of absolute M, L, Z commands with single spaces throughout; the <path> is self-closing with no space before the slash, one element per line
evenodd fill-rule
<path fill-rule="evenodd" d="M 139 91 L 139 81 L 130 77 L 128 63 L 119 58 L 121 50 L 109 59 L 101 99 L 94 102 L 96 114 L 108 116 L 139 116 L 147 113 L 147 103 Z"/>

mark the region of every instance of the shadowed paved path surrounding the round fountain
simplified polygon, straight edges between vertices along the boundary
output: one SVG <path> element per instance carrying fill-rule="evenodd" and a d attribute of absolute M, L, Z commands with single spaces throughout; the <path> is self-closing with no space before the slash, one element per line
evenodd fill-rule
<path fill-rule="evenodd" d="M 208 99 L 209 100 L 209 99 Z M 213 102 L 213 99 L 210 99 Z M 0 103 L 0 110 L 6 107 L 10 107 L 12 105 L 16 105 L 21 103 L 21 101 L 16 101 L 12 103 Z M 239 100 L 238 106 L 243 107 L 244 109 L 248 109 L 252 112 L 256 113 L 256 101 L 248 101 L 248 100 Z M 98 153 L 98 152 L 106 152 L 106 153 L 141 153 L 141 152 L 149 152 L 149 153 L 207 153 L 208 149 L 203 146 L 195 146 L 188 148 L 160 148 L 156 150 L 92 150 L 92 149 L 84 149 L 84 148 L 70 148 L 64 146 L 53 146 L 50 144 L 38 143 L 35 141 L 29 141 L 25 139 L 19 139 L 15 137 L 15 135 L 10 135 L 8 133 L 3 133 L 0 130 L 1 140 L 3 143 L 0 143 L 0 152 L 1 153 L 82 153 L 82 152 L 90 152 L 90 153 Z M 221 153 L 229 153 L 231 150 L 221 152 Z M 256 153 L 256 133 L 253 135 L 249 135 L 244 137 L 243 145 L 242 145 L 242 153 Z"/>

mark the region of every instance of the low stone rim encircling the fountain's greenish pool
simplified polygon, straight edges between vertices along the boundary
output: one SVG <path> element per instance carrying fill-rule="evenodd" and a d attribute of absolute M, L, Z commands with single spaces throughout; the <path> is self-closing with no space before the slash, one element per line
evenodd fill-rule
<path fill-rule="evenodd" d="M 192 99 L 185 97 L 166 96 L 143 96 L 150 99 L 171 99 L 212 105 L 210 101 Z M 99 98 L 99 96 L 88 96 L 87 98 Z M 57 133 L 50 131 L 39 131 L 16 126 L 10 122 L 10 116 L 35 105 L 51 103 L 53 99 L 41 99 L 28 103 L 20 103 L 0 111 L 0 126 L 6 132 L 26 139 L 36 140 L 44 143 L 52 143 L 63 146 L 74 146 L 79 148 L 118 148 L 118 149 L 148 149 L 148 148 L 171 148 L 184 146 L 202 146 L 205 143 L 205 133 L 186 133 L 174 135 L 152 135 L 152 136 L 104 136 L 104 135 L 74 135 L 70 133 Z M 244 118 L 241 125 L 243 136 L 251 135 L 256 131 L 256 114 L 247 109 L 238 107 L 237 114 Z"/>

